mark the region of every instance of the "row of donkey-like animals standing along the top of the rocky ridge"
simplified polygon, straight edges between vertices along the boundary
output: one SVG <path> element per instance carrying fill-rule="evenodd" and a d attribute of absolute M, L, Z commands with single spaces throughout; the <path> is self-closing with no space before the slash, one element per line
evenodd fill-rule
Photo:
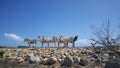
<path fill-rule="evenodd" d="M 68 43 L 72 43 L 72 47 L 75 47 L 75 41 L 77 39 L 78 39 L 78 36 L 68 37 L 68 38 L 65 38 L 63 36 L 59 36 L 59 38 L 55 36 L 53 36 L 52 38 L 47 38 L 45 36 L 42 36 L 42 37 L 38 36 L 38 40 L 36 39 L 30 40 L 30 39 L 25 38 L 24 42 L 27 42 L 29 47 L 30 47 L 30 44 L 35 44 L 35 47 L 36 47 L 37 41 L 41 42 L 42 47 L 44 47 L 45 43 L 48 44 L 48 47 L 50 43 L 54 43 L 56 47 L 56 44 L 58 43 L 58 48 L 59 48 L 61 43 L 64 44 L 63 47 L 68 47 Z"/>

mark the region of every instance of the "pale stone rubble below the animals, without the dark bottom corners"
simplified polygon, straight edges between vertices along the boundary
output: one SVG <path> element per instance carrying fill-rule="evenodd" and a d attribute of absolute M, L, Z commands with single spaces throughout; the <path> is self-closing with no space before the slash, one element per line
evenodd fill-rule
<path fill-rule="evenodd" d="M 111 59 L 111 56 L 113 57 L 112 59 L 116 59 L 116 55 L 120 54 L 120 50 L 115 53 L 111 51 L 101 53 L 99 49 L 93 51 L 85 48 L 1 48 L 0 51 L 5 52 L 3 59 L 11 59 L 6 60 L 8 62 L 14 61 L 17 64 L 28 62 L 29 64 L 43 66 L 57 65 L 58 68 L 104 66 Z M 108 65 L 107 63 L 107 67 Z"/>

